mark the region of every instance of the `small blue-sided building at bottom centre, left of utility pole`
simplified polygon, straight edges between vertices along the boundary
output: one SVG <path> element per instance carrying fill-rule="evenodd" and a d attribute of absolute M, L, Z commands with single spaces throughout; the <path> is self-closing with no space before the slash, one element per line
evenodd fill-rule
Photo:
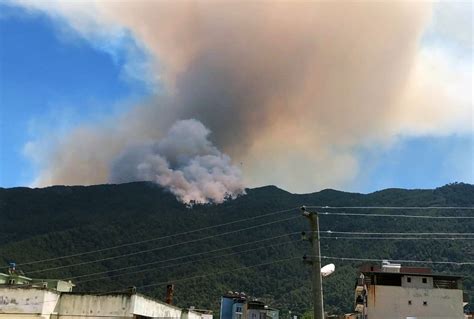
<path fill-rule="evenodd" d="M 221 298 L 221 319 L 278 319 L 279 310 L 244 293 L 228 292 Z"/>

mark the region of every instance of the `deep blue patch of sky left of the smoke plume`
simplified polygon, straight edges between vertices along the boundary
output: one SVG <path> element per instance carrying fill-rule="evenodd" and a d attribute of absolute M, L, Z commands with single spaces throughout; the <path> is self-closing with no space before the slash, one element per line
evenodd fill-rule
<path fill-rule="evenodd" d="M 37 173 L 23 154 L 29 140 L 123 111 L 124 100 L 140 100 L 148 88 L 123 74 L 133 39 L 110 54 L 62 36 L 45 14 L 6 5 L 0 12 L 0 186 L 25 186 Z"/>

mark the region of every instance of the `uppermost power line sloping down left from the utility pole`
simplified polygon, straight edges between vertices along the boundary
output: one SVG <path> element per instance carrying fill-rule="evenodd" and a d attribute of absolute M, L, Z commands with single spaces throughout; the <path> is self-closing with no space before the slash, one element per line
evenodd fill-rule
<path fill-rule="evenodd" d="M 209 230 L 209 229 L 213 229 L 213 228 L 218 228 L 218 227 L 223 227 L 223 226 L 228 226 L 228 225 L 241 223 L 241 222 L 244 222 L 244 221 L 255 220 L 255 219 L 258 219 L 258 218 L 262 218 L 262 217 L 268 217 L 268 216 L 273 216 L 273 215 L 277 215 L 277 214 L 287 213 L 287 212 L 290 212 L 290 211 L 295 210 L 295 209 L 298 209 L 298 207 L 278 210 L 278 211 L 274 211 L 274 212 L 270 212 L 270 213 L 265 213 L 263 215 L 243 218 L 243 219 L 239 219 L 239 220 L 235 220 L 235 221 L 231 221 L 231 222 L 227 222 L 227 223 L 222 223 L 222 224 L 218 224 L 218 225 L 213 225 L 213 226 L 202 227 L 202 228 L 198 228 L 198 229 L 194 229 L 194 230 L 190 230 L 190 231 L 186 231 L 186 232 L 181 232 L 181 233 L 176 233 L 176 234 L 172 234 L 172 235 L 166 235 L 166 236 L 162 236 L 162 237 L 155 237 L 155 238 L 135 241 L 135 242 L 131 242 L 131 243 L 120 244 L 120 245 L 107 247 L 107 248 L 90 250 L 90 251 L 71 254 L 71 255 L 66 255 L 66 256 L 29 261 L 29 262 L 17 264 L 17 266 L 33 265 L 33 264 L 37 264 L 37 263 L 56 261 L 56 260 L 61 260 L 61 259 L 73 258 L 73 257 L 79 257 L 79 256 L 84 256 L 84 255 L 89 255 L 89 254 L 94 254 L 94 253 L 99 253 L 99 252 L 105 252 L 105 251 L 109 251 L 109 250 L 113 250 L 113 249 L 118 249 L 118 248 L 123 248 L 123 247 L 129 247 L 129 246 L 149 243 L 149 242 L 152 242 L 152 241 L 157 241 L 157 240 L 162 240 L 162 239 L 167 239 L 167 238 L 173 238 L 173 237 L 182 236 L 182 235 L 189 235 L 189 234 L 200 232 L 200 231 L 203 231 L 203 230 Z M 8 267 L 2 267 L 2 268 L 8 268 Z"/>

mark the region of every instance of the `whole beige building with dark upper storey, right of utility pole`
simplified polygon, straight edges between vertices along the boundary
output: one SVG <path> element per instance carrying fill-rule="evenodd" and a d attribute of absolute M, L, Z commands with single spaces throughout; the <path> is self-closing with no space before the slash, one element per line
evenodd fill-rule
<path fill-rule="evenodd" d="M 464 319 L 462 277 L 388 261 L 364 266 L 355 304 L 358 319 Z"/>

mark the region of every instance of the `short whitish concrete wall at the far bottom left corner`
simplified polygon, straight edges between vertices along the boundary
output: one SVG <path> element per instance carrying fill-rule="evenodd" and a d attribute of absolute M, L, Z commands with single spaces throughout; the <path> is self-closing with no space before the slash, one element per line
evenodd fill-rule
<path fill-rule="evenodd" d="M 55 312 L 60 294 L 36 288 L 0 288 L 0 318 L 45 318 Z"/>

